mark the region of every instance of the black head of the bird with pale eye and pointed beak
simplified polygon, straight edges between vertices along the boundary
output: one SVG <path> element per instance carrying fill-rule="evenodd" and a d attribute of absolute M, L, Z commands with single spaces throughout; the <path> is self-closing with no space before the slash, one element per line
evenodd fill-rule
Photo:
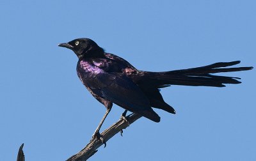
<path fill-rule="evenodd" d="M 90 38 L 77 38 L 68 43 L 60 43 L 58 46 L 73 50 L 79 59 L 104 56 L 104 50 Z"/>

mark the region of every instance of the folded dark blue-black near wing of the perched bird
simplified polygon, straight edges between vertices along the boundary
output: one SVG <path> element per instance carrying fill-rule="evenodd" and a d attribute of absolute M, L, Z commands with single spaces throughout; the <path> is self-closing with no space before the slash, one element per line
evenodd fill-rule
<path fill-rule="evenodd" d="M 150 102 L 129 78 L 118 73 L 100 73 L 91 81 L 95 88 L 92 91 L 128 111 L 159 122 L 160 118 L 150 107 Z M 97 88 L 96 88 L 97 87 Z"/>

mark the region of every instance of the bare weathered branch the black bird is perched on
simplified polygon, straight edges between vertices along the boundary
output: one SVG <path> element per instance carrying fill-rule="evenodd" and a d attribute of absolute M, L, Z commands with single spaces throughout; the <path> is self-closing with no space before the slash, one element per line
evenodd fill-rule
<path fill-rule="evenodd" d="M 118 134 L 118 132 L 122 131 L 123 129 L 129 127 L 134 121 L 141 118 L 139 114 L 132 114 L 131 116 L 127 117 L 127 121 L 124 119 L 119 119 L 115 124 L 113 124 L 111 127 L 104 130 L 100 135 L 104 139 L 104 141 L 108 141 L 113 137 L 114 135 Z M 102 146 L 102 141 L 100 139 L 92 139 L 79 153 L 76 155 L 73 155 L 72 157 L 68 158 L 67 161 L 85 161 L 88 158 L 92 157 L 98 150 L 100 146 Z"/>

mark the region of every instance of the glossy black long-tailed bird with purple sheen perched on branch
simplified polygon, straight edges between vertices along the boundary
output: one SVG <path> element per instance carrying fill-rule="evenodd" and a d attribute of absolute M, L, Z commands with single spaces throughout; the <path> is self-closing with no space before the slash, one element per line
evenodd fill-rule
<path fill-rule="evenodd" d="M 239 84 L 238 77 L 225 77 L 211 73 L 252 70 L 250 67 L 223 68 L 237 65 L 240 61 L 214 63 L 212 65 L 168 72 L 146 72 L 137 70 L 129 62 L 114 54 L 106 53 L 89 38 L 78 38 L 58 46 L 76 53 L 77 75 L 90 93 L 102 103 L 107 111 L 95 130 L 99 130 L 114 104 L 152 121 L 160 117 L 152 107 L 175 114 L 175 110 L 164 102 L 159 88 L 170 85 L 225 87 L 224 84 Z"/>

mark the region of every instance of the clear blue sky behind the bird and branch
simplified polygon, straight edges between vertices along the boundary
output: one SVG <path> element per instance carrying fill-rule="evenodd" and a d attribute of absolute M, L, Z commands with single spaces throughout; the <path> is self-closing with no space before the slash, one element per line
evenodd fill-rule
<path fill-rule="evenodd" d="M 91 139 L 105 108 L 58 43 L 95 40 L 140 70 L 241 60 L 256 66 L 256 1 L 1 1 L 0 158 L 65 160 Z M 90 160 L 256 160 L 255 69 L 226 88 L 172 86 L 177 114 L 156 109 Z M 123 112 L 114 106 L 102 130 Z"/>

